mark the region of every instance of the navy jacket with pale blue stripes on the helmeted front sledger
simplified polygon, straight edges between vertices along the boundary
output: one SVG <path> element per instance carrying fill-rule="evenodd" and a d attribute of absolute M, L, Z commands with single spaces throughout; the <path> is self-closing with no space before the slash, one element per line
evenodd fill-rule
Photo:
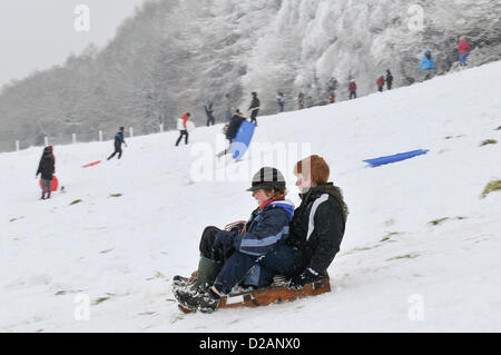
<path fill-rule="evenodd" d="M 263 209 L 257 208 L 252 213 L 244 233 L 220 230 L 216 235 L 214 247 L 235 249 L 252 256 L 266 255 L 287 238 L 293 214 L 294 205 L 286 200 L 274 201 Z"/>

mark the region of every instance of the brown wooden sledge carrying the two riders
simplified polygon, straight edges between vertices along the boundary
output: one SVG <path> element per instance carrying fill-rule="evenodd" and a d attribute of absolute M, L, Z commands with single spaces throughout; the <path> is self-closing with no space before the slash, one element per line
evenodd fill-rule
<path fill-rule="evenodd" d="M 301 297 L 317 296 L 330 292 L 331 282 L 327 275 L 315 283 L 307 284 L 302 289 L 291 289 L 284 285 L 272 285 L 266 288 L 232 294 L 220 299 L 218 309 L 268 306 L 275 303 L 291 302 Z M 178 305 L 178 308 L 184 313 L 196 312 L 181 305 Z"/>

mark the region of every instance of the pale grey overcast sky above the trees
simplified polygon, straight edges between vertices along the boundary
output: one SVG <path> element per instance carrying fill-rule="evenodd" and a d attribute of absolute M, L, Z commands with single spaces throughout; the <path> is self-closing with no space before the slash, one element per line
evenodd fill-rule
<path fill-rule="evenodd" d="M 0 0 L 0 86 L 36 69 L 63 63 L 90 42 L 106 45 L 144 0 Z M 79 32 L 77 6 L 86 4 L 89 32 Z M 81 22 L 80 22 L 81 23 Z"/>

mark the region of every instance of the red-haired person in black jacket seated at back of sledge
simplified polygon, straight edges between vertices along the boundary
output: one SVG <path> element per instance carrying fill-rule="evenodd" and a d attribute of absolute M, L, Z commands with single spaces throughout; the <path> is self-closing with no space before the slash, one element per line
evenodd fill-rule
<path fill-rule="evenodd" d="M 341 189 L 327 183 L 330 168 L 323 158 L 298 161 L 294 174 L 302 203 L 294 211 L 286 245 L 294 259 L 289 288 L 301 289 L 326 275 L 340 250 L 348 209 Z"/>

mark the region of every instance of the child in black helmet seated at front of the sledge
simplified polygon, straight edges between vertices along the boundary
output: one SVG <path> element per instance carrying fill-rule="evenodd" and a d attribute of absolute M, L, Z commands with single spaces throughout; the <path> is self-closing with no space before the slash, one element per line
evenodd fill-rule
<path fill-rule="evenodd" d="M 234 286 L 264 287 L 273 283 L 274 275 L 294 272 L 293 255 L 285 245 L 294 205 L 285 200 L 283 175 L 264 167 L 254 175 L 248 191 L 258 208 L 247 223 L 236 224 L 229 230 L 204 230 L 197 282 L 193 287 L 175 290 L 181 306 L 212 313 Z"/>

